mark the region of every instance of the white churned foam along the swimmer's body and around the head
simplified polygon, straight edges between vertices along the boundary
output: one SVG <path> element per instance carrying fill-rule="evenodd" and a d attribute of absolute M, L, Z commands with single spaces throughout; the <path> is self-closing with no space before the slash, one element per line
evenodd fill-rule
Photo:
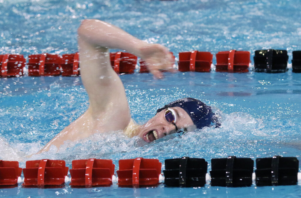
<path fill-rule="evenodd" d="M 216 111 L 215 111 L 216 112 Z M 255 119 L 246 113 L 225 114 L 219 112 L 221 128 L 205 127 L 201 130 L 188 132 L 184 135 L 172 134 L 152 143 L 145 143 L 141 138 L 126 137 L 122 131 L 109 133 L 96 133 L 80 141 L 66 141 L 57 149 L 52 146 L 48 152 L 34 154 L 42 149 L 40 143 L 17 143 L 10 145 L 3 138 L 0 141 L 2 159 L 5 160 L 35 160 L 35 159 L 63 159 L 71 164 L 75 159 L 101 158 L 101 159 L 129 159 L 137 156 L 145 158 L 160 158 L 196 155 L 210 158 L 216 155 L 213 147 L 223 148 L 228 141 L 235 147 L 242 148 L 244 142 L 256 141 L 259 137 L 270 136 L 270 132 L 263 133 L 265 127 L 261 119 Z M 237 149 L 239 150 L 239 149 Z M 33 155 L 32 155 L 33 154 Z M 24 156 L 32 155 L 30 158 Z"/>

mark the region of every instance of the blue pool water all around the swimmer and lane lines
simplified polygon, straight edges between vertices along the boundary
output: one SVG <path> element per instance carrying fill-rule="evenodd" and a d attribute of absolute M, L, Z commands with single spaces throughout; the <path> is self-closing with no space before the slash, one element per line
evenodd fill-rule
<path fill-rule="evenodd" d="M 301 1 L 138 1 L 138 0 L 0 0 L 0 53 L 28 56 L 42 52 L 77 51 L 76 29 L 80 20 L 97 18 L 125 29 L 139 39 L 161 43 L 178 59 L 181 51 L 286 49 L 300 50 Z M 16 23 L 16 25 L 14 24 Z M 251 67 L 252 70 L 252 67 Z M 143 123 L 157 108 L 182 97 L 195 97 L 219 112 L 222 127 L 204 128 L 168 136 L 151 144 L 126 138 L 120 132 L 95 134 L 81 142 L 68 142 L 31 158 L 51 138 L 88 108 L 80 77 L 0 78 L 0 159 L 164 159 L 181 156 L 210 159 L 296 156 L 301 160 L 301 78 L 287 73 L 175 73 L 154 80 L 150 74 L 123 75 L 132 117 Z M 0 189 L 7 197 L 297 197 L 300 185 L 278 187 L 156 188 L 111 187 L 28 189 L 20 185 Z"/>

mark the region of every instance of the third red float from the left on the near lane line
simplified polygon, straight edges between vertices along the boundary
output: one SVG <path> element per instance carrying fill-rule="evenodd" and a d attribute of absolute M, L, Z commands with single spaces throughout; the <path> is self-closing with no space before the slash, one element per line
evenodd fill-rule
<path fill-rule="evenodd" d="M 79 159 L 72 161 L 71 186 L 110 186 L 115 165 L 110 159 Z"/>

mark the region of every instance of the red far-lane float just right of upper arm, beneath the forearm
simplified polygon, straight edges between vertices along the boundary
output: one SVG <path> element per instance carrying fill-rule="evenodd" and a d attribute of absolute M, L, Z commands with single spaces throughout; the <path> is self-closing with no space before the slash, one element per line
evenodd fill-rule
<path fill-rule="evenodd" d="M 127 52 L 110 53 L 110 61 L 114 71 L 118 74 L 134 73 L 137 57 Z"/>

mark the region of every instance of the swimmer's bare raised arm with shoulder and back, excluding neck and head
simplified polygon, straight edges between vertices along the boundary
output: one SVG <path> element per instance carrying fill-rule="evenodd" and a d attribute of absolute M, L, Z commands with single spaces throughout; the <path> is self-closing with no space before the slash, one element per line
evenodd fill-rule
<path fill-rule="evenodd" d="M 141 57 L 155 77 L 161 70 L 172 70 L 169 51 L 158 44 L 147 44 L 125 31 L 100 20 L 83 20 L 78 29 L 82 82 L 89 96 L 88 110 L 64 128 L 39 153 L 64 141 L 78 141 L 96 132 L 124 130 L 131 115 L 125 90 L 110 64 L 108 48 L 118 48 Z"/>

